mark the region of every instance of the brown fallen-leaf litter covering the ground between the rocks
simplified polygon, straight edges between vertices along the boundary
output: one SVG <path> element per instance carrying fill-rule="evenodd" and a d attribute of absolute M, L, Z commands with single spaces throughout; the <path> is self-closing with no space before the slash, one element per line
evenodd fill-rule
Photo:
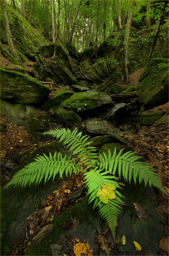
<path fill-rule="evenodd" d="M 28 71 L 31 70 L 31 66 L 34 62 L 24 62 L 24 67 L 26 70 L 27 75 Z M 2 65 L 10 65 L 10 62 L 1 54 L 1 66 Z M 138 78 L 144 68 L 141 68 L 134 73 L 130 74 L 129 76 L 129 83 L 127 85 L 122 84 L 122 80 L 119 81 L 119 85 L 123 87 L 125 90 L 129 86 L 138 84 Z M 30 76 L 30 75 L 29 75 Z M 63 87 L 64 89 L 64 87 Z M 57 88 L 57 90 L 60 90 Z M 130 92 L 130 93 L 135 93 Z M 49 98 L 54 97 L 56 91 L 52 91 L 49 95 Z M 168 103 L 159 106 L 154 109 L 154 111 L 162 110 L 166 114 L 168 114 Z M 49 143 L 50 141 L 40 142 L 39 144 L 32 144 L 30 137 L 31 135 L 27 133 L 27 129 L 25 126 L 17 126 L 13 125 L 11 122 L 7 120 L 5 116 L 1 116 L 0 121 L 1 127 L 1 152 L 0 152 L 0 159 L 1 161 L 7 160 L 7 165 L 10 165 L 11 157 L 16 154 L 21 154 L 29 149 L 32 148 L 32 151 L 35 148 L 38 148 L 44 144 Z M 125 127 L 124 127 L 125 128 Z M 144 161 L 150 163 L 152 167 L 157 170 L 157 173 L 160 175 L 161 183 L 163 188 L 168 193 L 168 119 L 163 123 L 154 124 L 151 126 L 143 126 L 141 130 L 137 131 L 125 131 L 120 133 L 121 138 L 125 139 L 127 143 L 133 146 L 134 151 L 139 154 L 139 156 L 144 157 Z M 17 166 L 17 164 L 15 165 Z M 1 186 L 7 181 L 11 179 L 12 174 L 10 171 L 5 170 L 5 168 L 1 169 Z M 37 217 L 42 215 L 42 212 L 46 211 L 47 218 L 52 220 L 54 216 L 60 214 L 61 211 L 64 209 L 60 209 L 60 205 L 62 205 L 63 200 L 65 201 L 69 194 L 72 194 L 74 191 L 81 188 L 84 184 L 82 173 L 79 175 L 75 175 L 74 172 L 72 173 L 71 177 L 68 177 L 66 181 L 61 183 L 61 186 L 54 192 L 52 195 L 49 195 L 46 201 L 43 202 L 44 209 L 38 209 L 33 216 L 30 217 L 32 227 L 33 222 Z M 66 189 L 66 190 L 65 190 Z M 57 197 L 57 202 L 55 200 L 56 194 L 59 192 L 60 198 Z M 85 194 L 84 194 L 85 196 Z M 79 200 L 81 200 L 80 198 Z M 163 192 L 159 190 L 159 196 L 157 198 L 152 198 L 153 200 L 158 200 L 160 205 L 158 206 L 158 211 L 168 214 L 168 196 L 166 196 Z M 55 206 L 54 206 L 55 205 Z M 47 221 L 46 218 L 46 221 Z M 42 226 L 45 225 L 46 222 L 42 221 Z M 34 228 L 34 227 L 33 227 Z M 42 228 L 42 227 L 41 227 Z M 36 230 L 38 232 L 38 230 Z M 25 243 L 24 248 L 22 250 L 26 250 L 29 247 L 29 241 Z M 17 248 L 16 244 L 16 248 Z M 20 250 L 20 249 L 19 249 Z M 11 255 L 18 255 L 19 252 L 16 253 L 16 250 L 13 251 Z M 21 254 L 20 254 L 21 255 Z"/>

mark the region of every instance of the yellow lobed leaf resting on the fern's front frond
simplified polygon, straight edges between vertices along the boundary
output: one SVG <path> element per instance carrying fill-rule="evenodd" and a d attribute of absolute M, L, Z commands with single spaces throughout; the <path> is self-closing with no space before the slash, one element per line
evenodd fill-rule
<path fill-rule="evenodd" d="M 115 190 L 116 187 L 112 184 L 108 184 L 107 182 L 102 185 L 102 188 L 100 188 L 97 191 L 97 195 L 99 196 L 99 199 L 101 202 L 107 204 L 109 202 L 109 198 L 113 199 L 116 198 L 116 194 L 113 190 Z"/>

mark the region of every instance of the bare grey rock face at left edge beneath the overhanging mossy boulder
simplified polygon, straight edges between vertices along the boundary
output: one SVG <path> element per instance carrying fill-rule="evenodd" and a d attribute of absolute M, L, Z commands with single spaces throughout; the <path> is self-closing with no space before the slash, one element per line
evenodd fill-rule
<path fill-rule="evenodd" d="M 1 115 L 6 116 L 13 125 L 25 125 L 25 110 L 23 104 L 12 104 L 1 99 Z"/>

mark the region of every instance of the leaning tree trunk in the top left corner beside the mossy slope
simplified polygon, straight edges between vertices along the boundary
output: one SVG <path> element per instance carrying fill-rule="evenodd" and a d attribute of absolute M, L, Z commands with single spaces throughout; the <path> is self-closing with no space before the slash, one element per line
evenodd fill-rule
<path fill-rule="evenodd" d="M 9 51 L 12 54 L 12 56 L 18 61 L 19 57 L 17 55 L 16 49 L 15 49 L 15 47 L 13 45 L 13 41 L 12 41 L 12 36 L 11 36 L 10 27 L 9 27 L 9 21 L 8 21 L 8 16 L 7 16 L 5 0 L 1 0 L 0 3 L 1 3 L 1 9 L 2 9 L 2 14 L 3 14 L 3 21 L 4 21 L 4 25 L 5 25 L 5 31 L 6 31 Z"/>

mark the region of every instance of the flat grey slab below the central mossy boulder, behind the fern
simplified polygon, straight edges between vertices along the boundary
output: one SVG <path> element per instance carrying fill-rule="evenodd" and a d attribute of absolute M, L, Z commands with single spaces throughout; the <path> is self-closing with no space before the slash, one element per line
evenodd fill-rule
<path fill-rule="evenodd" d="M 88 133 L 105 134 L 116 131 L 115 127 L 108 121 L 98 118 L 89 118 L 84 120 L 84 125 Z"/>

